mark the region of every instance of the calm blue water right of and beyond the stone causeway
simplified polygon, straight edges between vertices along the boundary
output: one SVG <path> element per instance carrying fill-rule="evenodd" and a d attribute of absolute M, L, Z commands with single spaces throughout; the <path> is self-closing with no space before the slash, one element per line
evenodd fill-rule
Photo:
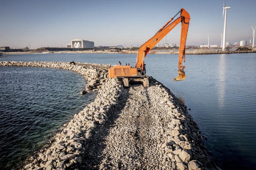
<path fill-rule="evenodd" d="M 7 55 L 1 61 L 64 61 L 133 64 L 136 54 Z M 178 75 L 178 55 L 148 54 L 147 74 L 185 102 L 208 150 L 223 170 L 256 167 L 256 54 L 187 55 L 186 80 Z M 11 76 L 11 75 L 10 75 Z M 64 77 L 64 76 L 63 76 Z M 10 77 L 11 79 L 11 77 Z M 72 85 L 72 83 L 70 84 Z M 11 91 L 16 91 L 11 88 Z"/>

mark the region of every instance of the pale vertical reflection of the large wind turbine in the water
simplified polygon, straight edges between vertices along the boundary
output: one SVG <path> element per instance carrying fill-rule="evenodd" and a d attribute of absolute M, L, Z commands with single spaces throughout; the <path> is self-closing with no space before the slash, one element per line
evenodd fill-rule
<path fill-rule="evenodd" d="M 225 61 L 225 55 L 221 54 L 220 55 L 220 60 L 219 60 L 219 69 L 218 69 L 218 76 L 219 79 L 217 82 L 217 93 L 218 93 L 218 106 L 219 108 L 223 108 L 224 106 L 224 101 L 225 101 L 225 90 L 226 90 L 226 61 Z"/>

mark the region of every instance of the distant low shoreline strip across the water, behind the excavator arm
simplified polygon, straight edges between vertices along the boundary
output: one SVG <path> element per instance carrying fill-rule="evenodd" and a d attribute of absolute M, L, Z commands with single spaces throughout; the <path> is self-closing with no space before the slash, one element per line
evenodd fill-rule
<path fill-rule="evenodd" d="M 45 52 L 4 52 L 3 54 L 62 54 L 62 53 L 85 53 L 85 54 L 137 54 L 138 51 L 45 51 Z M 189 55 L 200 55 L 200 54 L 233 54 L 233 53 L 255 53 L 256 50 L 250 51 L 210 51 L 205 49 L 194 50 L 194 51 L 186 51 L 186 54 Z M 179 54 L 178 51 L 155 51 L 152 50 L 149 54 Z"/>

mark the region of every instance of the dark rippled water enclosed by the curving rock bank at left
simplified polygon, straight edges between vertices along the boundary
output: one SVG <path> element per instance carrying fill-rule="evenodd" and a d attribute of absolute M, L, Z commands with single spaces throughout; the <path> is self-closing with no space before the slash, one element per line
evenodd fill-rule
<path fill-rule="evenodd" d="M 10 169 L 39 148 L 94 98 L 82 96 L 74 72 L 0 67 L 0 169 Z"/>

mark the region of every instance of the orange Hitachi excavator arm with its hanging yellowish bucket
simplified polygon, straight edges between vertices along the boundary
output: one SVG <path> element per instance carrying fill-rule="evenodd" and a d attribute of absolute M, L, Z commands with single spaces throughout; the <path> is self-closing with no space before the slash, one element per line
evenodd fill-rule
<path fill-rule="evenodd" d="M 180 17 L 171 21 L 181 13 Z M 181 81 L 186 78 L 184 68 L 182 63 L 185 62 L 185 46 L 187 40 L 187 34 L 189 29 L 190 15 L 185 9 L 181 9 L 170 21 L 168 21 L 165 26 L 163 26 L 152 38 L 140 46 L 137 61 L 135 67 L 137 69 L 144 70 L 144 58 L 147 53 L 158 43 L 160 42 L 173 28 L 175 28 L 179 23 L 182 23 L 181 26 L 181 38 L 180 38 L 180 48 L 179 48 L 179 64 L 178 64 L 178 76 L 174 78 L 174 81 Z"/>

